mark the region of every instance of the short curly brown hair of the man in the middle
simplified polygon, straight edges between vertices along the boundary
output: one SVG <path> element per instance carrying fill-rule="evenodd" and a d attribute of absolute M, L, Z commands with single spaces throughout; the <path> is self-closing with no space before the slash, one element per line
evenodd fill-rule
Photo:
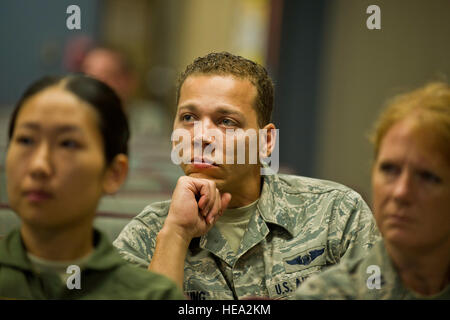
<path fill-rule="evenodd" d="M 258 124 L 260 127 L 264 127 L 270 123 L 274 88 L 273 82 L 263 66 L 229 52 L 213 52 L 206 56 L 198 57 L 178 77 L 176 88 L 177 105 L 180 99 L 181 86 L 189 76 L 195 74 L 232 75 L 239 79 L 249 80 L 258 92 L 253 106 L 258 115 Z"/>

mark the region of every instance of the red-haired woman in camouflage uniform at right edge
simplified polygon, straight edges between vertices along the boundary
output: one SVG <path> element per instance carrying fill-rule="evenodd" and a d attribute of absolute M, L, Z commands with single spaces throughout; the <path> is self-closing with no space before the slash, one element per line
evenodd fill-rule
<path fill-rule="evenodd" d="M 297 299 L 450 299 L 450 87 L 394 98 L 372 136 L 370 254 L 303 283 Z"/>

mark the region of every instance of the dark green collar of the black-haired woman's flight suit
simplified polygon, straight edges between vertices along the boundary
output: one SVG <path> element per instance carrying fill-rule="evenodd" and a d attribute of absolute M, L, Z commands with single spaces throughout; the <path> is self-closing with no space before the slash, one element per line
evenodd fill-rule
<path fill-rule="evenodd" d="M 105 270 L 124 263 L 108 237 L 96 229 L 94 229 L 94 246 L 95 250 L 84 265 L 84 269 Z M 32 271 L 19 229 L 11 231 L 0 241 L 0 264 Z"/>

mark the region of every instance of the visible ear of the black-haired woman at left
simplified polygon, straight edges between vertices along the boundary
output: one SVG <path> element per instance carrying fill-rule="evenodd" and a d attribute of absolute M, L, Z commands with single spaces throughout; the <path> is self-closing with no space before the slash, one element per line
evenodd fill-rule
<path fill-rule="evenodd" d="M 114 157 L 103 177 L 103 192 L 114 194 L 125 182 L 128 174 L 128 157 L 123 153 Z"/>

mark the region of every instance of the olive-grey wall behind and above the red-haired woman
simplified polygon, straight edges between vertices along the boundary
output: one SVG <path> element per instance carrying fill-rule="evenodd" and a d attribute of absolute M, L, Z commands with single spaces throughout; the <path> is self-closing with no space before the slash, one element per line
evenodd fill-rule
<path fill-rule="evenodd" d="M 381 30 L 366 8 L 381 8 Z M 327 7 L 315 174 L 371 200 L 366 136 L 385 100 L 450 75 L 450 1 L 339 0 Z"/>

